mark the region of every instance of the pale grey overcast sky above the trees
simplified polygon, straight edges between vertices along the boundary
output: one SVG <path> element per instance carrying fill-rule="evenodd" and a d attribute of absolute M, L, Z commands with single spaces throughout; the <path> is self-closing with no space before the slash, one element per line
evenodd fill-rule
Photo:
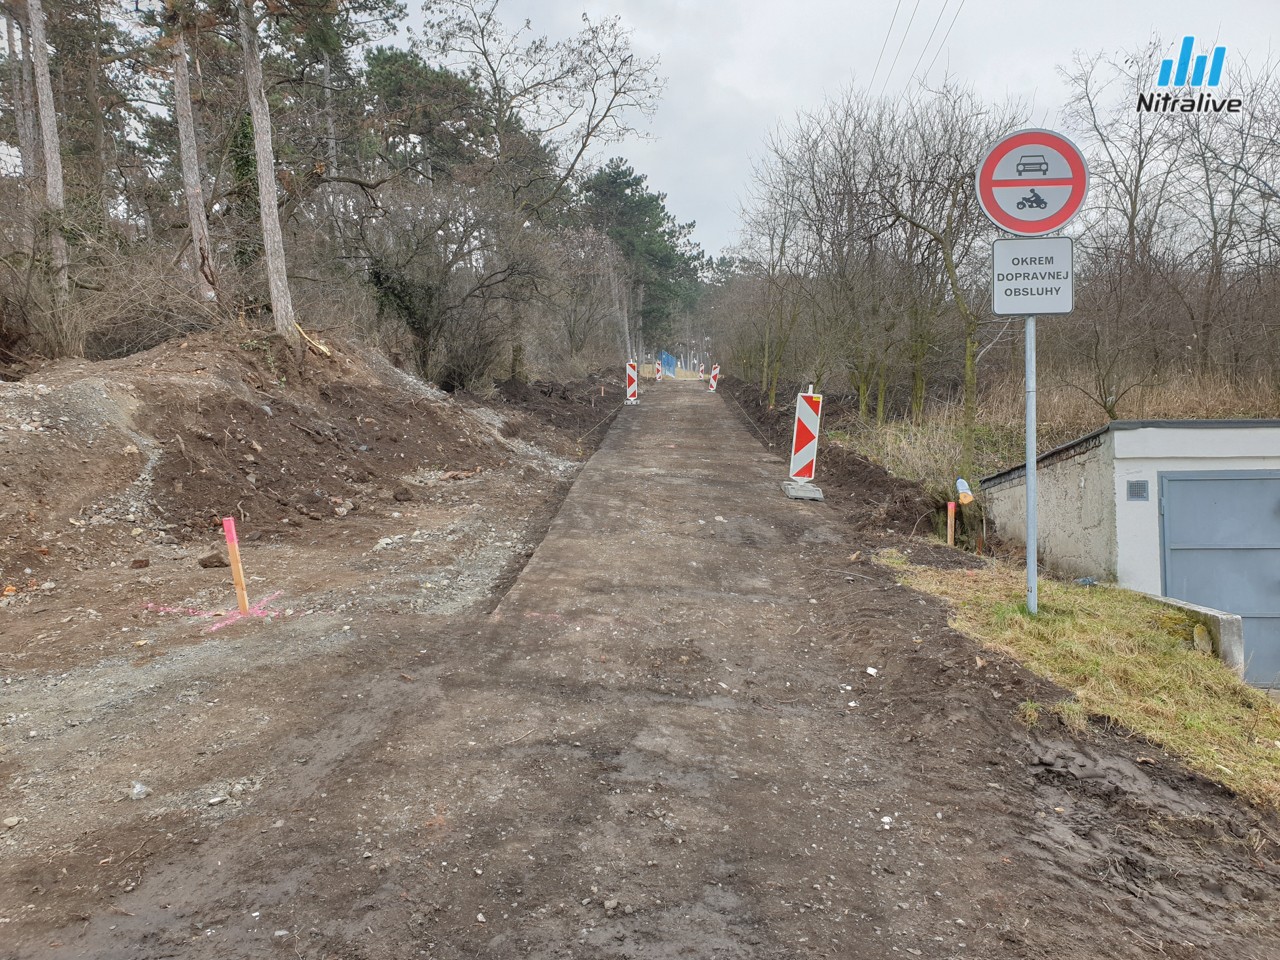
<path fill-rule="evenodd" d="M 1181 37 L 1192 35 L 1197 52 L 1212 42 L 1228 47 L 1221 90 L 1229 91 L 1234 58 L 1261 61 L 1280 41 L 1276 0 L 502 0 L 498 5 L 508 26 L 529 19 L 535 33 L 553 40 L 580 29 L 584 12 L 593 19 L 621 15 L 634 31 L 636 52 L 662 59 L 667 90 L 646 124 L 652 138 L 607 152 L 627 157 L 649 178 L 650 189 L 666 193 L 677 220 L 695 220 L 694 238 L 709 253 L 736 241 L 751 160 L 768 133 L 850 84 L 893 95 L 913 77 L 938 81 L 950 73 L 987 99 L 1024 100 L 1033 108 L 1033 125 L 1071 134 L 1059 119 L 1065 88 L 1056 68 L 1069 64 L 1075 51 L 1119 52 L 1158 36 L 1174 52 Z"/>

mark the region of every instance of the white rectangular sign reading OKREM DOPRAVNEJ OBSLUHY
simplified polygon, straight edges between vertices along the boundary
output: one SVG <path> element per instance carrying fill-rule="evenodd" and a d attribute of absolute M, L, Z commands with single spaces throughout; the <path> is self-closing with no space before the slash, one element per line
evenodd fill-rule
<path fill-rule="evenodd" d="M 1069 237 L 991 244 L 991 308 L 996 316 L 1070 314 L 1074 278 Z"/>

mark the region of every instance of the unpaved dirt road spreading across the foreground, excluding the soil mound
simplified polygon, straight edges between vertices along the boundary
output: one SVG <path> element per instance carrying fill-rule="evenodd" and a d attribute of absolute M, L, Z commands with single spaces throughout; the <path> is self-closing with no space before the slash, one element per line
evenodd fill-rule
<path fill-rule="evenodd" d="M 72 792 L 76 751 L 110 783 L 74 831 L 23 808 L 0 956 L 1280 956 L 1274 822 L 1149 746 L 1028 731 L 1052 691 L 783 472 L 668 381 L 492 613 L 352 589 L 44 677 L 100 723 L 38 760 L 6 727 L 24 796 Z M 154 695 L 113 714 L 104 671 Z"/>

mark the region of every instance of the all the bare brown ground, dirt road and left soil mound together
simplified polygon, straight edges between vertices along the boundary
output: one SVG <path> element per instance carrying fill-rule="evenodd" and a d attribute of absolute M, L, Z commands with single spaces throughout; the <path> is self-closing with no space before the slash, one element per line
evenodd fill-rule
<path fill-rule="evenodd" d="M 972 562 L 918 492 L 603 385 L 0 384 L 0 956 L 1280 956 L 1274 818 L 869 562 Z"/>

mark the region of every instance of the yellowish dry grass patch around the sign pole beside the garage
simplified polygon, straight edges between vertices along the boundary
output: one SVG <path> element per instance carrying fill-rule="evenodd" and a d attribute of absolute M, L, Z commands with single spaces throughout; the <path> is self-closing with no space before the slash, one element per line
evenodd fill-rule
<path fill-rule="evenodd" d="M 1023 704 L 1025 721 L 1041 710 L 1073 726 L 1105 718 L 1244 799 L 1280 809 L 1280 704 L 1189 649 L 1190 626 L 1176 611 L 1130 590 L 1044 580 L 1039 614 L 1030 617 L 1019 567 L 890 566 L 910 586 L 948 600 L 956 630 L 1075 694 L 1050 707 Z"/>

